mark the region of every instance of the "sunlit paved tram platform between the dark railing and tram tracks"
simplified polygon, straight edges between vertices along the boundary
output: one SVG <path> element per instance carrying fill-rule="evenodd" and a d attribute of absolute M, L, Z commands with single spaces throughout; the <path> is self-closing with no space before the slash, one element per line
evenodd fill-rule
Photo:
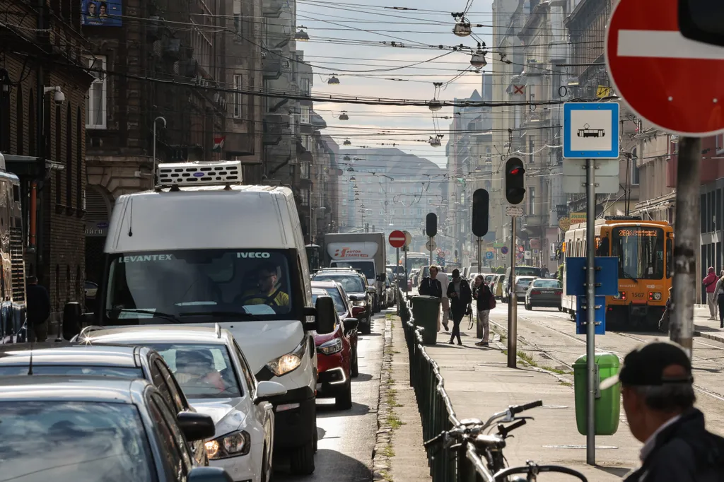
<path fill-rule="evenodd" d="M 467 323 L 462 327 L 467 329 Z M 576 428 L 570 384 L 531 368 L 520 359 L 517 369 L 508 368 L 507 355 L 502 351 L 505 347 L 499 342 L 491 343 L 489 349 L 475 347 L 474 331 L 463 331 L 464 347 L 446 344 L 447 337 L 438 334 L 438 344 L 426 346 L 426 351 L 439 364 L 458 418 L 485 420 L 508 405 L 536 399 L 544 402 L 543 407 L 526 413 L 535 420 L 518 428 L 515 437 L 508 440 L 505 456 L 510 465 L 526 460 L 566 465 L 580 470 L 592 482 L 620 481 L 637 465 L 641 443 L 631 436 L 623 422 L 617 434 L 597 437 L 598 465 L 586 465 L 586 437 L 578 434 Z"/>

